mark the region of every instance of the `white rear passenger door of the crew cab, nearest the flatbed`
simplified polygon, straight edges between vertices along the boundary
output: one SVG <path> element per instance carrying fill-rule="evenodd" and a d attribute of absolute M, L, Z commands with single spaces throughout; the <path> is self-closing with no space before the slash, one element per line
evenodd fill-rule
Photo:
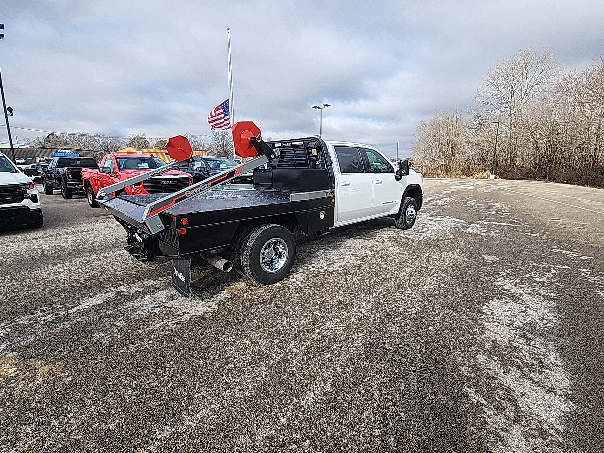
<path fill-rule="evenodd" d="M 334 146 L 336 171 L 336 219 L 338 222 L 362 219 L 371 211 L 373 180 L 365 171 L 361 150 L 352 146 Z M 334 165 L 335 166 L 335 165 Z"/>

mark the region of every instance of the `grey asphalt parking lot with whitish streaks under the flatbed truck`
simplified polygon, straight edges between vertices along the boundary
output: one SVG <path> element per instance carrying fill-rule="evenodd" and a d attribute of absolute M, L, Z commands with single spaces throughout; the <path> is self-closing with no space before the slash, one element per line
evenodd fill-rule
<path fill-rule="evenodd" d="M 412 230 L 196 295 L 85 198 L 0 232 L 4 451 L 598 451 L 604 190 L 426 179 Z"/>

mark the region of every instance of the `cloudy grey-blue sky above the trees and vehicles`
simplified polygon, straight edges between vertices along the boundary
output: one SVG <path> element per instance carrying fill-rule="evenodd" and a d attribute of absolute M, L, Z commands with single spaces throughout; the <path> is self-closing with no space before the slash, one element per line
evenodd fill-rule
<path fill-rule="evenodd" d="M 13 140 L 210 133 L 228 97 L 227 26 L 236 120 L 308 136 L 311 106 L 329 103 L 323 138 L 388 155 L 398 141 L 401 156 L 419 120 L 469 106 L 481 73 L 518 50 L 551 48 L 568 68 L 604 53 L 602 0 L 3 0 L 0 22 Z"/>

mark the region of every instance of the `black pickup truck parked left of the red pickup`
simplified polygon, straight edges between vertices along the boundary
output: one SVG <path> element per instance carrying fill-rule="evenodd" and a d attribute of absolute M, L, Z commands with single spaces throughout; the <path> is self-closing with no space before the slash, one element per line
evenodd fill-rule
<path fill-rule="evenodd" d="M 56 157 L 42 171 L 44 193 L 52 195 L 54 189 L 61 191 L 61 196 L 69 200 L 74 192 L 84 193 L 82 169 L 98 169 L 97 161 L 91 157 Z"/>

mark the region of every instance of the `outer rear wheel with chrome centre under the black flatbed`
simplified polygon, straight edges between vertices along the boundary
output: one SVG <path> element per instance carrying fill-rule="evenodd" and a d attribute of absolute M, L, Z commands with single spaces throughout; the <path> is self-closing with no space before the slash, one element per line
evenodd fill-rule
<path fill-rule="evenodd" d="M 272 251 L 271 258 L 263 261 L 266 267 L 260 263 L 263 251 Z M 241 252 L 241 267 L 245 275 L 252 280 L 260 284 L 273 284 L 289 274 L 294 265 L 295 255 L 296 242 L 292 233 L 281 225 L 265 223 L 254 228 L 245 238 Z M 275 265 L 275 270 L 268 271 L 267 268 L 272 264 Z"/>

